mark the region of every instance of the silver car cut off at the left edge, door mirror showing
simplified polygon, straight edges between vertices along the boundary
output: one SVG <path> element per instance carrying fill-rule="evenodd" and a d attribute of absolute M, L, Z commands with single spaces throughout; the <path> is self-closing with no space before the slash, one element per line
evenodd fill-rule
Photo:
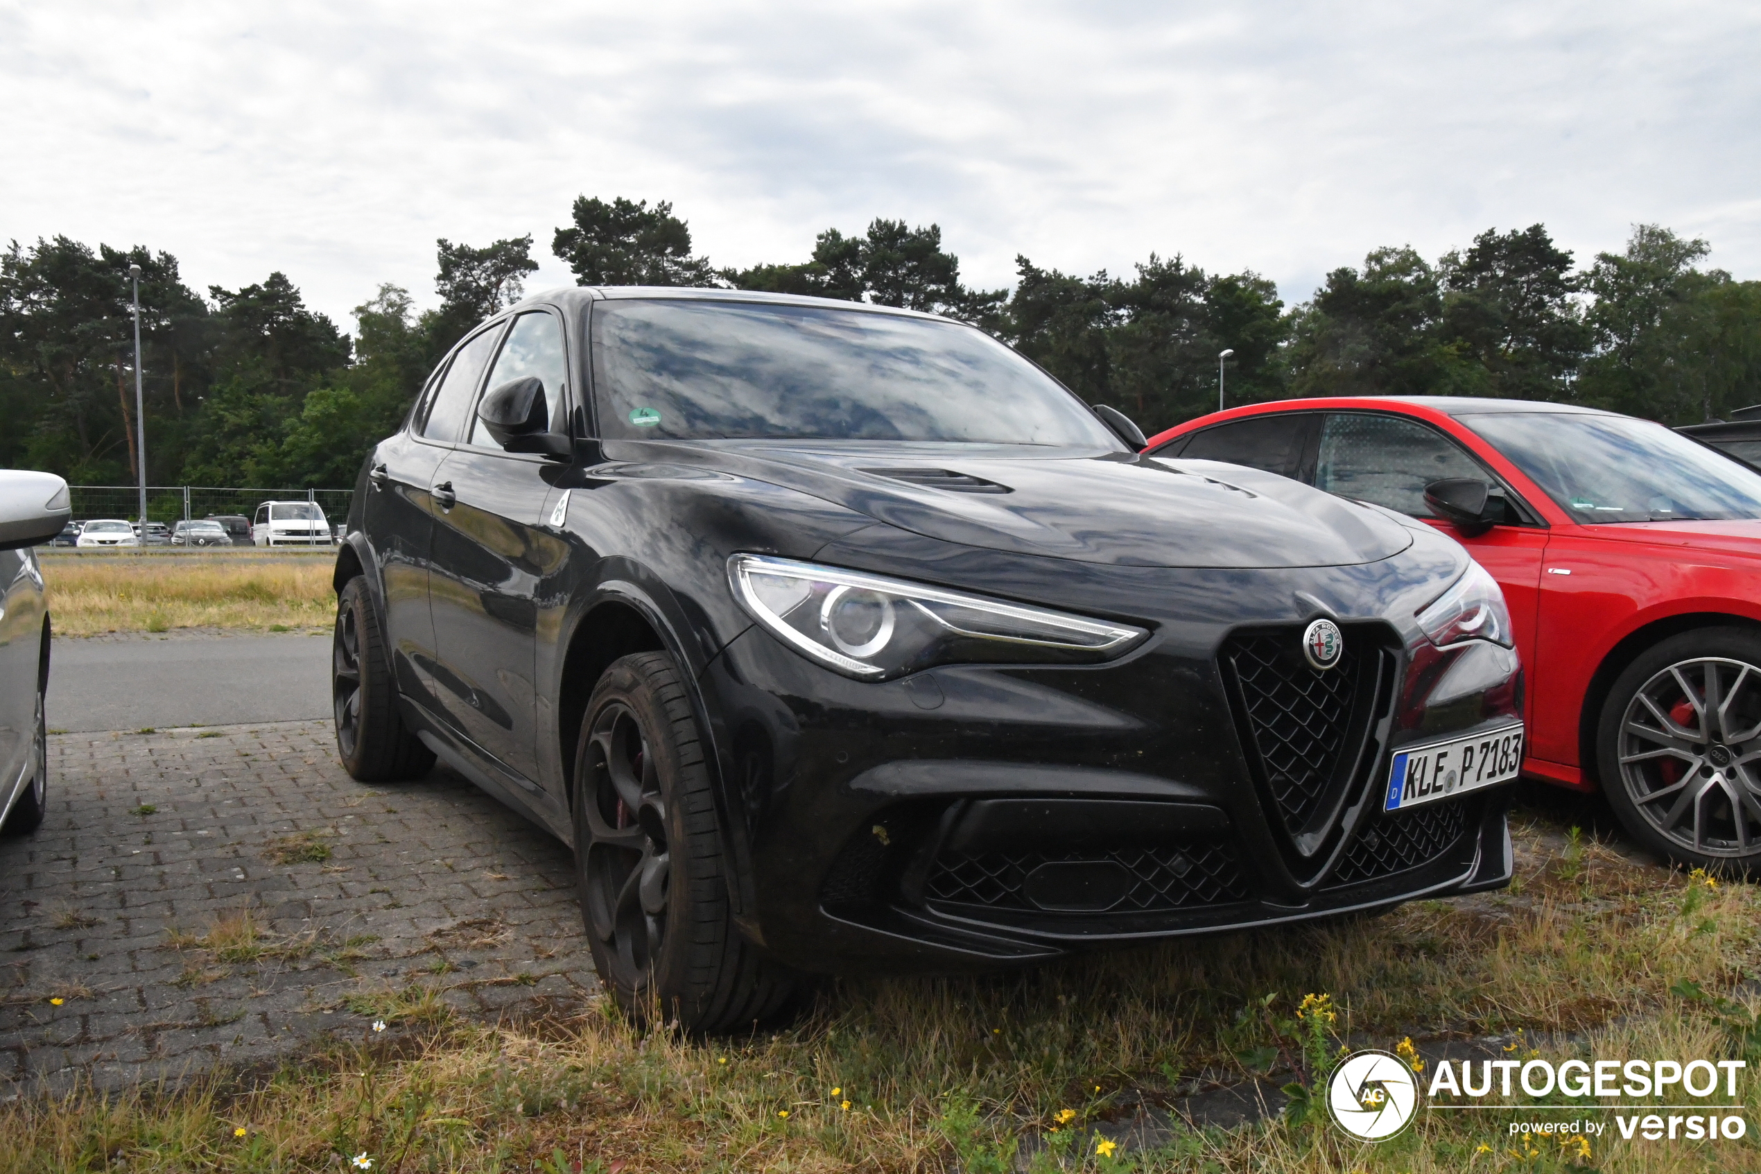
<path fill-rule="evenodd" d="M 67 525 L 67 482 L 0 470 L 0 833 L 37 831 L 49 810 L 44 699 L 49 605 L 32 546 Z M 123 523 L 127 525 L 127 523 Z"/>

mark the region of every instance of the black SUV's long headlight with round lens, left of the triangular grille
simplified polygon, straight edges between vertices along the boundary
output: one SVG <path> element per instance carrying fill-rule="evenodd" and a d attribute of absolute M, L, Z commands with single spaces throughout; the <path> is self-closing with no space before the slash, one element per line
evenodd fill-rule
<path fill-rule="evenodd" d="M 734 598 L 828 669 L 884 681 L 937 664 L 1094 664 L 1143 628 L 764 554 L 727 560 Z"/>

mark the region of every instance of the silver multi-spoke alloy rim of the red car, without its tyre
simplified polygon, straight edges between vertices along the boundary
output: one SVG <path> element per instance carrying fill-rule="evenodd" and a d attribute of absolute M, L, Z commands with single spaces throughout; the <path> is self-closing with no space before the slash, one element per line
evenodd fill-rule
<path fill-rule="evenodd" d="M 1761 669 L 1680 660 L 1627 702 L 1620 785 L 1668 841 L 1710 857 L 1761 852 Z"/>

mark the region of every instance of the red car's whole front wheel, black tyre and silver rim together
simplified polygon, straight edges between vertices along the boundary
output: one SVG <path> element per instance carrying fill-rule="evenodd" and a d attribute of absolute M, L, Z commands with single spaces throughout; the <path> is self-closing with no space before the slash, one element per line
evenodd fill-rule
<path fill-rule="evenodd" d="M 1603 704 L 1595 760 L 1639 845 L 1761 875 L 1761 634 L 1699 628 L 1641 653 Z"/>

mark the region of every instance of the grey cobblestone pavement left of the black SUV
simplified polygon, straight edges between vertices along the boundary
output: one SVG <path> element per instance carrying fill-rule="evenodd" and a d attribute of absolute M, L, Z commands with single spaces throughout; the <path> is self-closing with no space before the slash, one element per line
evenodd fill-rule
<path fill-rule="evenodd" d="M 49 753 L 48 820 L 0 840 L 0 1097 L 597 996 L 569 850 L 446 767 L 356 783 L 329 722 Z"/>

